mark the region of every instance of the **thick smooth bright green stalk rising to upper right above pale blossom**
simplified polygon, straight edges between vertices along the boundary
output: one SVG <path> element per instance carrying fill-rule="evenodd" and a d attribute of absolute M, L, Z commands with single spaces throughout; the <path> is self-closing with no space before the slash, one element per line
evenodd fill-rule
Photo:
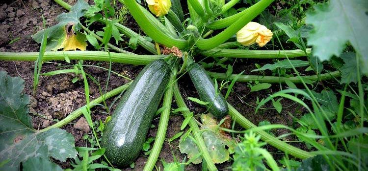
<path fill-rule="evenodd" d="M 224 43 L 234 34 L 236 34 L 237 31 L 239 31 L 245 24 L 257 17 L 258 14 L 260 14 L 269 4 L 271 4 L 271 2 L 273 2 L 273 0 L 261 0 L 252 5 L 248 8 L 249 11 L 246 14 L 242 15 L 240 18 L 237 19 L 237 21 L 235 21 L 218 35 L 210 39 L 200 38 L 196 43 L 197 47 L 201 50 L 210 50 L 220 45 L 221 43 Z"/>

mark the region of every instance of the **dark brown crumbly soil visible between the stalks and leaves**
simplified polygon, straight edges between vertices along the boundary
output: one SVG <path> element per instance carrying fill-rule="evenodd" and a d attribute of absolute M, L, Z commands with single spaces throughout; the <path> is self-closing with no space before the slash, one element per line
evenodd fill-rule
<path fill-rule="evenodd" d="M 91 0 L 90 0 L 91 1 Z M 69 0 L 69 4 L 74 4 L 75 0 Z M 38 30 L 42 29 L 42 15 L 46 19 L 47 25 L 51 26 L 55 24 L 55 17 L 58 14 L 67 12 L 63 7 L 59 6 L 53 0 L 10 0 L 5 3 L 0 2 L 0 51 L 1 52 L 37 52 L 39 51 L 39 44 L 34 42 L 30 37 L 32 34 L 36 33 Z M 137 24 L 128 17 L 128 21 L 125 23 L 126 26 L 132 28 L 136 32 L 139 32 Z M 142 31 L 140 31 L 142 33 Z M 11 40 L 19 38 L 19 40 L 14 43 L 10 43 Z M 129 40 L 129 39 L 126 39 Z M 93 50 L 90 45 L 87 49 Z M 138 54 L 148 54 L 145 50 L 138 48 L 134 53 Z M 271 61 L 257 61 L 257 60 L 243 60 L 242 62 L 237 61 L 234 65 L 234 73 L 240 73 L 245 70 L 244 74 L 254 74 L 250 73 L 252 69 L 255 69 L 255 63 L 266 64 Z M 76 64 L 76 61 L 72 61 L 72 64 Z M 97 65 L 101 67 L 108 68 L 108 63 L 85 61 L 86 65 Z M 71 65 L 66 62 L 51 61 L 45 62 L 42 66 L 41 72 L 49 72 L 57 70 L 61 66 Z M 131 79 L 140 72 L 143 66 L 135 66 L 129 64 L 112 64 L 112 70 L 121 73 Z M 0 61 L 0 70 L 6 71 L 12 77 L 22 77 L 25 80 L 25 92 L 31 96 L 31 103 L 29 105 L 30 113 L 32 116 L 32 123 L 35 129 L 41 129 L 48 127 L 58 120 L 63 119 L 73 110 L 85 105 L 85 95 L 84 95 L 84 85 L 82 79 L 75 74 L 59 74 L 55 76 L 40 76 L 40 81 L 38 84 L 37 92 L 33 95 L 33 62 L 19 62 L 19 61 Z M 85 72 L 92 75 L 96 80 L 98 80 L 105 91 L 105 84 L 108 72 L 97 67 L 84 67 Z M 216 71 L 224 72 L 224 69 L 217 69 Z M 266 73 L 270 75 L 271 73 Z M 79 78 L 79 81 L 73 83 L 74 78 Z M 129 81 L 111 74 L 109 85 L 106 91 L 112 90 L 120 85 L 128 83 Z M 180 90 L 185 97 L 196 97 L 198 94 L 191 84 L 190 78 L 187 76 L 182 77 L 179 80 Z M 267 120 L 272 124 L 284 124 L 289 127 L 294 127 L 293 118 L 288 114 L 291 113 L 296 117 L 300 117 L 306 110 L 302 107 L 295 105 L 292 101 L 282 100 L 282 106 L 284 107 L 281 113 L 277 113 L 275 109 L 261 110 L 258 114 L 255 114 L 255 106 L 257 97 L 261 100 L 266 98 L 269 94 L 277 92 L 280 88 L 285 89 L 286 87 L 280 87 L 278 84 L 272 85 L 271 88 L 258 91 L 250 92 L 250 88 L 247 83 L 236 83 L 234 86 L 234 93 L 228 98 L 228 101 L 236 107 L 236 109 L 242 113 L 246 118 L 252 121 L 254 124 L 258 125 L 260 121 Z M 91 100 L 100 96 L 99 87 L 91 80 L 89 81 L 89 91 Z M 223 94 L 226 92 L 223 91 Z M 249 94 L 248 94 L 249 93 Z M 238 94 L 238 95 L 237 95 Z M 239 99 L 241 96 L 245 96 L 242 100 Z M 116 97 L 115 97 L 116 98 Z M 111 105 L 114 98 L 106 101 L 107 106 Z M 201 107 L 193 102 L 186 101 L 187 106 L 191 111 L 196 114 L 203 113 L 206 111 L 204 107 Z M 175 103 L 173 107 L 175 108 Z M 273 108 L 272 104 L 267 103 L 263 108 Z M 114 106 L 111 111 L 114 110 Z M 92 119 L 93 121 L 104 121 L 106 118 L 106 113 L 102 107 L 93 108 Z M 172 115 L 169 120 L 169 126 L 167 129 L 166 137 L 172 137 L 180 131 L 181 124 L 184 118 L 181 115 Z M 198 119 L 199 120 L 199 119 Z M 153 121 L 154 128 L 151 128 L 147 137 L 155 137 L 158 127 L 159 118 Z M 76 146 L 87 146 L 90 143 L 88 140 L 83 139 L 84 134 L 91 136 L 91 131 L 85 126 L 84 118 L 77 118 L 68 125 L 62 127 L 67 130 L 75 137 Z M 88 125 L 87 125 L 88 127 Z M 243 128 L 237 126 L 237 130 Z M 285 129 L 277 129 L 272 131 L 276 136 L 289 133 Z M 240 135 L 242 136 L 242 135 Z M 296 140 L 295 137 L 286 137 L 285 140 Z M 181 154 L 178 149 L 179 139 L 174 140 L 170 144 L 165 141 L 162 147 L 159 158 L 166 162 L 173 162 L 174 156 L 182 161 L 185 157 Z M 293 144 L 302 149 L 306 149 L 301 144 Z M 272 152 L 276 159 L 281 159 L 281 151 L 271 147 L 265 147 L 268 151 Z M 124 171 L 140 171 L 143 169 L 147 157 L 141 153 L 141 156 L 135 161 L 134 169 L 126 168 Z M 67 162 L 56 161 L 63 169 L 70 168 L 70 160 Z M 160 161 L 157 162 L 157 167 L 161 168 L 162 164 Z M 223 164 L 217 165 L 219 170 L 231 170 L 231 163 L 225 162 Z M 199 171 L 201 170 L 201 164 L 199 165 L 189 165 L 185 167 L 188 171 Z"/>

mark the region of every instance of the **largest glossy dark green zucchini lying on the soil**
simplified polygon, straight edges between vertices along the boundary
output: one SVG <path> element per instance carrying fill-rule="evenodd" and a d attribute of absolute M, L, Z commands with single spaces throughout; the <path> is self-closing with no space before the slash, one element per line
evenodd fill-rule
<path fill-rule="evenodd" d="M 146 65 L 129 86 L 102 135 L 105 155 L 116 166 L 129 166 L 138 157 L 170 77 L 164 60 Z"/>

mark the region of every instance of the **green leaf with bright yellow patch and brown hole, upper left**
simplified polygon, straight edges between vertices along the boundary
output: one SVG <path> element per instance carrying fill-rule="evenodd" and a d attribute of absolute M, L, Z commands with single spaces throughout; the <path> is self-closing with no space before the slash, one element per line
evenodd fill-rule
<path fill-rule="evenodd" d="M 84 0 L 78 0 L 71 8 L 69 13 L 62 13 L 56 17 L 58 24 L 47 28 L 48 40 L 46 51 L 64 48 L 64 50 L 71 50 L 79 48 L 85 50 L 87 46 L 85 35 L 80 33 L 79 18 L 83 16 L 89 5 Z M 42 36 L 45 29 L 38 31 L 32 35 L 32 38 L 37 43 L 42 42 Z M 70 47 L 72 46 L 72 47 Z"/>

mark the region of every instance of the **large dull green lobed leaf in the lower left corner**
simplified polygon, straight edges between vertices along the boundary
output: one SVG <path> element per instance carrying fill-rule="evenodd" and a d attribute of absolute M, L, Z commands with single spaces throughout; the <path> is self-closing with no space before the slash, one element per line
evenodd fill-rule
<path fill-rule="evenodd" d="M 24 81 L 0 71 L 0 161 L 8 160 L 0 170 L 18 171 L 30 157 L 43 156 L 66 161 L 75 158 L 74 137 L 59 128 L 36 132 L 28 115 L 28 96 Z"/>

